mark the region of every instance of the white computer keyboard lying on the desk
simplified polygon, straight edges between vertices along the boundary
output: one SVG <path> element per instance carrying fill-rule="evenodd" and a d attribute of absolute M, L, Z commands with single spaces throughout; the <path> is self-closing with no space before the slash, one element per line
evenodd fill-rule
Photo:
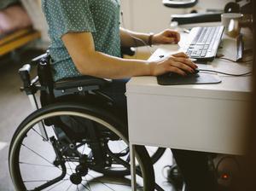
<path fill-rule="evenodd" d="M 189 32 L 189 45 L 183 51 L 197 61 L 213 61 L 224 32 L 224 26 L 195 27 Z"/>

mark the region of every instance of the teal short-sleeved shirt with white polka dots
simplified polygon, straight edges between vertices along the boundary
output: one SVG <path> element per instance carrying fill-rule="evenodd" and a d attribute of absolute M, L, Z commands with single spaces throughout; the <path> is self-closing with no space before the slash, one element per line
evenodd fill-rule
<path fill-rule="evenodd" d="M 61 40 L 67 32 L 91 32 L 96 51 L 120 56 L 119 7 L 119 0 L 42 0 L 55 81 L 81 76 Z"/>

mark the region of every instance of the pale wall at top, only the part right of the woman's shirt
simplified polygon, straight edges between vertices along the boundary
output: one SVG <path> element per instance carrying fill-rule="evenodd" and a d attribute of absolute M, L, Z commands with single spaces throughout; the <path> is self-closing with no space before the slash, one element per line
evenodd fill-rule
<path fill-rule="evenodd" d="M 205 9 L 223 9 L 225 3 L 232 0 L 199 0 L 195 7 Z M 160 32 L 169 27 L 171 14 L 184 14 L 189 9 L 170 9 L 162 0 L 121 0 L 124 11 L 125 27 L 137 32 Z"/>

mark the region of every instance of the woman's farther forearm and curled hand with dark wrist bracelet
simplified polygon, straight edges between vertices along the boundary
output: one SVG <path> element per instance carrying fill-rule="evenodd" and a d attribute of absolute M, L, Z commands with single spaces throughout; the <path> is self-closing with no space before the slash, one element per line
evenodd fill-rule
<path fill-rule="evenodd" d="M 151 39 L 152 44 L 148 44 L 149 37 L 150 34 L 147 33 L 131 32 L 124 28 L 120 28 L 121 45 L 125 47 L 138 47 L 160 43 L 178 43 L 180 40 L 179 33 L 170 29 L 154 34 Z"/>

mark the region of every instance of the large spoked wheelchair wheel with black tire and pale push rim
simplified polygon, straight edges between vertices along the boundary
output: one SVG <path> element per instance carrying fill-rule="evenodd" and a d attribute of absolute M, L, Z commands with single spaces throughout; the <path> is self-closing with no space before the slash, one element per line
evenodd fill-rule
<path fill-rule="evenodd" d="M 60 119 L 91 124 L 93 133 L 75 140 Z M 42 133 L 44 132 L 44 133 Z M 44 136 L 47 135 L 47 136 Z M 63 136 L 64 135 L 64 136 Z M 109 113 L 78 104 L 54 104 L 28 116 L 15 131 L 9 148 L 9 171 L 16 190 L 131 190 L 130 176 L 122 183 L 106 181 L 97 170 L 129 171 L 125 125 Z M 121 143 L 120 143 L 121 142 Z M 108 145 L 108 146 L 107 146 Z M 114 150 L 115 149 L 115 150 Z M 144 147 L 135 151 L 137 188 L 154 190 L 154 170 Z M 111 166 L 110 166 L 111 165 Z M 119 171 L 119 170 L 118 170 Z M 102 187 L 100 187 L 102 185 Z"/>

